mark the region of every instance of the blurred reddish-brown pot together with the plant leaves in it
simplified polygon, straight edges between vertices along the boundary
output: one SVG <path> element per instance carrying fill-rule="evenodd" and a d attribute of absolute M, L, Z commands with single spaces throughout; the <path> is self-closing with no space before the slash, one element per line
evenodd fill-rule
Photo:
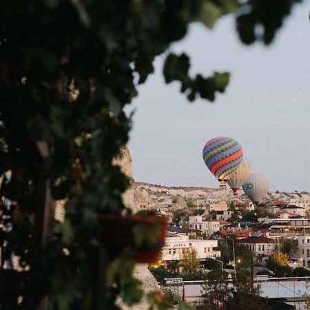
<path fill-rule="evenodd" d="M 101 242 L 107 255 L 126 254 L 136 262 L 156 262 L 165 245 L 167 218 L 145 210 L 133 216 L 101 216 Z"/>

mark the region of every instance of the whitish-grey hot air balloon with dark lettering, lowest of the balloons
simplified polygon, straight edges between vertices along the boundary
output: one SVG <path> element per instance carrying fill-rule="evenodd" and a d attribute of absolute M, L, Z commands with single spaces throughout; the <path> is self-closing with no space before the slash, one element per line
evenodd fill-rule
<path fill-rule="evenodd" d="M 269 189 L 269 180 L 263 174 L 250 174 L 249 178 L 242 185 L 242 189 L 258 205 Z"/>

